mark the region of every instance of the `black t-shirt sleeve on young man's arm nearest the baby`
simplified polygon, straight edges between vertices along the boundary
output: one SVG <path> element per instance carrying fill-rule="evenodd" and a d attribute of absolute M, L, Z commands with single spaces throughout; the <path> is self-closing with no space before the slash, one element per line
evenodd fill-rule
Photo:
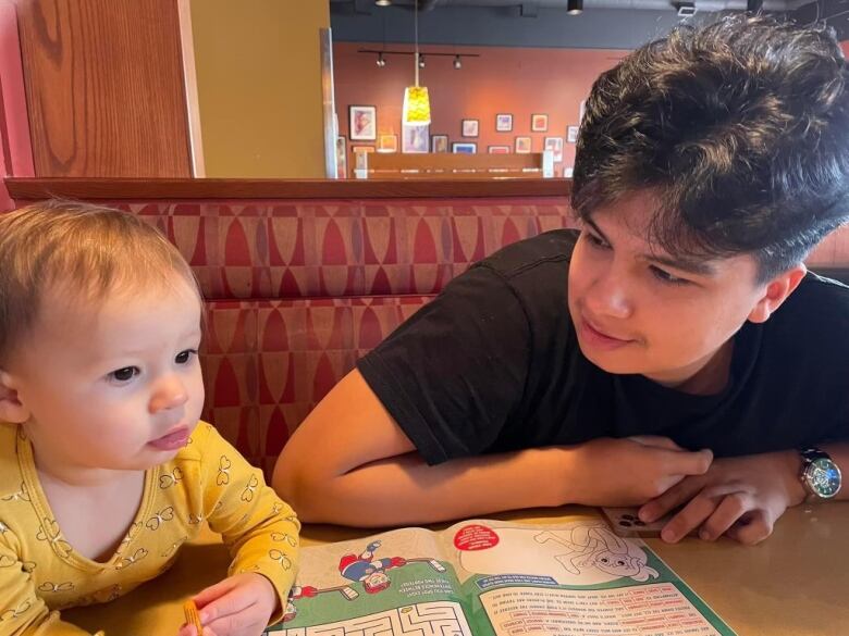
<path fill-rule="evenodd" d="M 499 272 L 475 266 L 357 366 L 429 464 L 487 452 L 520 403 L 530 327 Z"/>

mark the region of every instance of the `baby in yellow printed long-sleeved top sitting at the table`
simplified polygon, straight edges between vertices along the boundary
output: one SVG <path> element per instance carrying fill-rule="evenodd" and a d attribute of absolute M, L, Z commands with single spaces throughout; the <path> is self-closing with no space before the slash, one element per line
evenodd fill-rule
<path fill-rule="evenodd" d="M 204 523 L 233 557 L 194 599 L 204 634 L 282 619 L 300 525 L 198 421 L 200 338 L 192 271 L 144 221 L 63 201 L 0 214 L 0 636 L 85 634 L 57 610 L 160 575 Z"/>

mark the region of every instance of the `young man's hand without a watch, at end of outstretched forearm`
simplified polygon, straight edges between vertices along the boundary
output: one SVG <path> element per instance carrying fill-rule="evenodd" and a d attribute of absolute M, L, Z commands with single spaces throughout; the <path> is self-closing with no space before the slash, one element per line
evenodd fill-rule
<path fill-rule="evenodd" d="M 711 465 L 710 450 L 690 452 L 666 437 L 602 437 L 575 447 L 566 501 L 586 506 L 640 506 Z"/>

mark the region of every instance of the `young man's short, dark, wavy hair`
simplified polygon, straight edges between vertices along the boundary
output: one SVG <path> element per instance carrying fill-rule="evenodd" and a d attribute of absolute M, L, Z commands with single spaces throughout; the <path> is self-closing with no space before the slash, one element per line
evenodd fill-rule
<path fill-rule="evenodd" d="M 751 253 L 768 280 L 849 219 L 848 79 L 824 26 L 736 15 L 679 27 L 596 79 L 573 205 L 586 219 L 650 190 L 664 250 Z"/>

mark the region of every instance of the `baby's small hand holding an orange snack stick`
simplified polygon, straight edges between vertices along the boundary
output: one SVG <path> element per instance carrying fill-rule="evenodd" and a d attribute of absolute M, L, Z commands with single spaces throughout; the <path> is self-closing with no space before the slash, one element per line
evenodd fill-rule
<path fill-rule="evenodd" d="M 193 600 L 200 613 L 202 636 L 260 636 L 278 607 L 274 586 L 255 572 L 230 576 Z M 183 625 L 179 636 L 201 635 L 194 625 Z"/>

